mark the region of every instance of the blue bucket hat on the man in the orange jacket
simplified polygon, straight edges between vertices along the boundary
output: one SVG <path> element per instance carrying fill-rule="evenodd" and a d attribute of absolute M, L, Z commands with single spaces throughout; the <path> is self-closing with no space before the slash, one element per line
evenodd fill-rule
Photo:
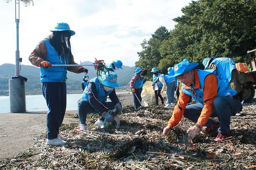
<path fill-rule="evenodd" d="M 184 59 L 182 62 L 174 66 L 174 71 L 169 73 L 169 77 L 177 77 L 189 72 L 191 69 L 198 66 L 198 62 L 189 62 L 188 59 Z"/>

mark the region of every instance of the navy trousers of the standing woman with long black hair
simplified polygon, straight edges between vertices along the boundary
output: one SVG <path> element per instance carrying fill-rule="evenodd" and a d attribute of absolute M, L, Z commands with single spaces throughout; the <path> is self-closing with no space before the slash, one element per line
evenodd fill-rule
<path fill-rule="evenodd" d="M 42 82 L 42 93 L 46 99 L 48 111 L 46 115 L 47 139 L 58 137 L 59 128 L 67 106 L 67 86 L 61 82 Z"/>

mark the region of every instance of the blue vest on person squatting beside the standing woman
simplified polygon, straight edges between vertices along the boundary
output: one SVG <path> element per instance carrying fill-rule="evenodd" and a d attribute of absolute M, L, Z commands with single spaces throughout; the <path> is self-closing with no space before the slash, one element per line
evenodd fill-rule
<path fill-rule="evenodd" d="M 95 97 L 97 98 L 98 101 L 100 101 L 102 103 L 106 102 L 107 101 L 107 96 L 112 92 L 112 90 L 106 92 L 104 90 L 104 88 L 103 88 L 102 83 L 100 83 L 100 80 L 97 77 L 91 79 L 90 82 L 95 83 L 95 87 L 96 87 L 96 94 L 93 94 L 93 95 L 95 95 Z M 81 99 L 84 99 L 84 100 L 89 102 L 88 86 L 86 86 L 84 88 L 84 92 L 82 94 L 82 98 Z"/>

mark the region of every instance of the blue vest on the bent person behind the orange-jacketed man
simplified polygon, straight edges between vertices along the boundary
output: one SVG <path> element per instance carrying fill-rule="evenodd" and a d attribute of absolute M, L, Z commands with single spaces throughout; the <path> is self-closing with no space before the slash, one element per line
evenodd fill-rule
<path fill-rule="evenodd" d="M 220 57 L 214 59 L 211 63 L 214 63 L 217 66 L 214 74 L 223 79 L 226 83 L 229 83 L 232 76 L 232 70 L 236 69 L 235 62 L 230 58 Z"/>

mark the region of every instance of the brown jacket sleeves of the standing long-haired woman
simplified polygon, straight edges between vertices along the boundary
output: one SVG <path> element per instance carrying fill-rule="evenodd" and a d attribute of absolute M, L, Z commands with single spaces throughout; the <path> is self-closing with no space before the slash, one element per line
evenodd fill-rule
<path fill-rule="evenodd" d="M 47 39 L 49 39 L 49 36 L 46 37 Z M 70 53 L 71 55 L 69 56 L 68 59 L 68 63 L 69 64 L 77 64 L 74 61 L 74 56 L 72 53 Z M 46 48 L 46 43 L 44 42 L 44 40 L 40 41 L 39 44 L 37 45 L 37 47 L 35 47 L 35 49 L 33 50 L 33 52 L 30 54 L 30 56 L 28 57 L 29 61 L 34 65 L 34 66 L 39 66 L 39 64 L 44 61 L 44 59 L 47 56 L 47 48 Z M 78 72 L 78 68 L 80 66 L 77 67 L 68 67 L 68 71 L 74 72 L 74 73 L 79 73 Z"/>

